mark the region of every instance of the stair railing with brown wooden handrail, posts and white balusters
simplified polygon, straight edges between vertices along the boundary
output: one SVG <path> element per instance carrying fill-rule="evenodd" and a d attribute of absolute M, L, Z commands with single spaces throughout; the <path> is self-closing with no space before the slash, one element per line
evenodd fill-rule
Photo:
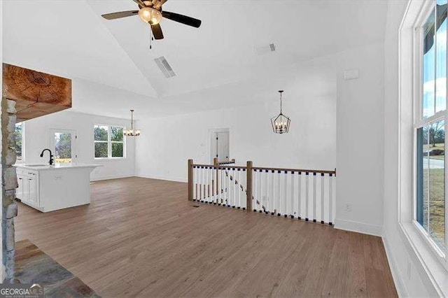
<path fill-rule="evenodd" d="M 207 171 L 195 171 L 194 169 L 206 169 Z M 211 171 L 212 170 L 212 171 Z M 225 173 L 225 177 L 228 177 L 229 181 L 227 182 L 227 180 L 224 180 L 223 182 L 223 174 L 224 173 L 220 173 L 219 170 L 224 170 Z M 232 171 L 233 173 L 235 173 L 235 170 L 238 171 L 238 174 L 235 174 L 235 177 L 232 176 Z M 241 172 L 239 172 L 240 170 L 243 170 L 242 176 L 241 176 Z M 246 171 L 246 173 L 244 173 L 244 171 Z M 272 201 L 272 206 L 269 206 L 269 200 L 268 200 L 268 206 L 265 206 L 263 204 L 263 199 L 260 201 L 258 198 L 255 197 L 260 195 L 258 193 L 259 189 L 257 186 L 257 181 L 258 179 L 260 179 L 260 175 L 258 175 L 256 172 L 259 171 L 261 172 L 265 172 L 266 174 L 268 173 L 285 173 L 286 175 L 278 175 L 278 176 L 271 176 L 272 178 L 272 185 L 274 185 L 274 178 L 278 177 L 278 183 L 276 184 L 277 189 L 279 189 L 278 187 L 282 187 L 280 185 L 280 181 L 283 181 L 284 185 L 284 190 L 283 190 L 283 194 L 288 193 L 288 190 L 286 190 L 286 185 L 288 185 L 287 181 L 291 180 L 291 179 L 298 179 L 298 199 L 299 199 L 299 204 L 298 204 L 298 211 L 296 214 L 296 211 L 294 211 L 294 213 L 291 213 L 291 208 L 294 208 L 294 204 L 293 204 L 293 193 L 294 193 L 294 189 L 295 189 L 295 183 L 290 183 L 290 187 L 291 188 L 291 192 L 290 192 L 290 202 L 286 201 L 286 199 L 283 201 L 283 203 L 280 201 L 280 205 L 279 208 L 276 208 L 277 206 L 274 206 L 274 201 Z M 201 177 L 201 181 L 199 184 L 196 183 L 196 185 L 193 185 L 193 181 L 195 180 L 194 176 L 196 175 L 196 173 L 200 174 Z M 293 174 L 293 176 L 291 176 L 291 178 L 289 178 L 288 173 Z M 296 178 L 296 175 L 294 175 L 295 173 L 298 173 L 300 175 L 299 178 Z M 311 173 L 311 178 L 309 178 L 309 174 Z M 306 178 L 304 177 L 304 175 L 307 175 Z M 317 175 L 318 174 L 318 175 Z M 205 175 L 205 176 L 204 176 Z M 329 177 L 325 177 L 325 176 L 329 176 Z M 270 176 L 270 175 L 267 175 Z M 264 176 L 267 178 L 267 176 Z M 316 177 L 318 176 L 318 177 Z M 205 177 L 205 178 L 204 178 Z M 238 177 L 238 180 L 236 179 Z M 239 181 L 241 178 L 241 180 L 244 179 L 244 177 L 246 177 L 246 181 L 245 181 L 245 185 L 241 184 L 241 181 Z M 263 175 L 262 175 L 263 177 Z M 318 197 L 316 197 L 317 193 L 320 193 L 320 205 L 321 206 L 321 223 L 324 223 L 325 220 L 325 215 L 324 215 L 324 208 L 325 208 L 325 204 L 324 204 L 324 199 L 326 197 L 325 192 L 324 192 L 324 183 L 328 183 L 328 198 L 329 201 L 329 215 L 328 215 L 328 224 L 332 225 L 332 183 L 334 183 L 334 179 L 336 177 L 336 169 L 334 171 L 329 171 L 329 170 L 313 170 L 313 169 L 289 169 L 289 168 L 268 168 L 268 167 L 261 167 L 261 166 L 253 166 L 253 162 L 248 161 L 246 162 L 246 166 L 235 166 L 235 165 L 223 165 L 220 164 L 218 162 L 218 158 L 214 158 L 214 164 L 194 164 L 193 159 L 188 159 L 188 200 L 202 200 L 204 199 L 204 201 L 208 202 L 209 204 L 223 204 L 223 197 L 222 194 L 224 192 L 228 193 L 226 194 L 225 197 L 225 201 L 226 204 L 228 203 L 228 198 L 227 195 L 230 194 L 230 197 L 232 197 L 232 192 L 233 192 L 233 199 L 234 202 L 233 204 L 235 206 L 232 206 L 233 208 L 242 208 L 243 210 L 246 209 L 246 211 L 257 211 L 259 208 L 258 206 L 260 206 L 260 208 L 262 210 L 260 210 L 260 212 L 265 211 L 265 212 L 270 212 L 272 215 L 276 214 L 278 216 L 280 215 L 284 215 L 284 217 L 288 217 L 290 216 L 290 218 L 295 218 L 297 216 L 297 218 L 300 220 L 302 217 L 304 218 L 305 221 L 308 221 L 309 219 L 312 219 L 314 222 L 316 222 L 316 220 L 318 218 L 316 218 L 316 215 L 318 215 L 319 213 L 316 212 L 316 202 L 318 200 Z M 205 179 L 205 180 L 204 180 Z M 211 181 L 210 181 L 211 180 Z M 304 181 L 304 183 L 306 183 L 306 192 L 305 192 L 305 198 L 306 198 L 306 207 L 304 208 L 304 212 L 305 214 L 302 214 L 300 211 L 300 185 L 301 182 L 300 181 Z M 254 182 L 255 181 L 255 182 Z M 267 180 L 266 180 L 267 181 Z M 293 180 L 291 180 L 293 181 Z M 311 185 L 309 184 L 309 182 L 311 183 Z M 320 181 L 320 182 L 317 182 Z M 229 184 L 230 183 L 230 184 Z M 255 186 L 253 186 L 253 183 L 255 183 Z M 261 180 L 262 183 L 262 180 Z M 318 184 L 319 183 L 319 184 Z M 231 186 L 233 185 L 233 186 Z M 321 189 L 316 190 L 316 185 L 319 185 L 319 188 Z M 269 185 L 267 185 L 266 187 L 268 187 Z M 230 187 L 230 192 L 228 190 L 228 187 Z M 245 204 L 241 204 L 241 193 L 238 194 L 239 197 L 239 203 L 235 204 L 235 199 L 236 199 L 236 188 L 238 187 L 239 190 L 241 190 L 242 192 L 244 192 L 244 197 L 246 197 L 246 202 Z M 261 187 L 263 187 L 263 184 L 261 184 Z M 274 186 L 272 186 L 274 187 Z M 309 188 L 310 187 L 310 188 Z M 195 192 L 193 191 L 195 190 Z M 260 190 L 262 193 L 264 190 Z M 266 188 L 266 191 L 268 191 L 268 188 Z M 310 192 L 310 193 L 309 193 Z M 278 195 L 280 195 L 281 192 L 279 192 Z M 218 196 L 219 194 L 219 196 Z M 310 196 L 310 197 L 309 197 Z M 219 198 L 221 197 L 221 198 Z M 284 197 L 284 196 L 283 196 Z M 218 199 L 221 199 L 221 203 L 218 201 Z M 273 197 L 273 199 L 275 199 L 275 197 Z M 311 200 L 311 203 L 313 204 L 313 211 L 311 214 L 311 216 L 313 216 L 313 218 L 309 218 L 309 199 Z M 244 202 L 244 201 L 243 201 Z M 289 204 L 290 203 L 290 204 Z M 276 204 L 276 203 L 275 203 Z M 281 204 L 283 204 L 283 210 L 281 208 Z M 285 205 L 286 204 L 286 211 L 285 209 Z M 288 207 L 289 204 L 289 207 Z M 230 205 L 228 205 L 230 206 Z M 288 208 L 290 208 L 290 210 L 288 211 Z M 278 211 L 278 212 L 277 212 Z M 289 213 L 288 213 L 289 212 Z M 302 214 L 302 215 L 300 215 Z"/>

